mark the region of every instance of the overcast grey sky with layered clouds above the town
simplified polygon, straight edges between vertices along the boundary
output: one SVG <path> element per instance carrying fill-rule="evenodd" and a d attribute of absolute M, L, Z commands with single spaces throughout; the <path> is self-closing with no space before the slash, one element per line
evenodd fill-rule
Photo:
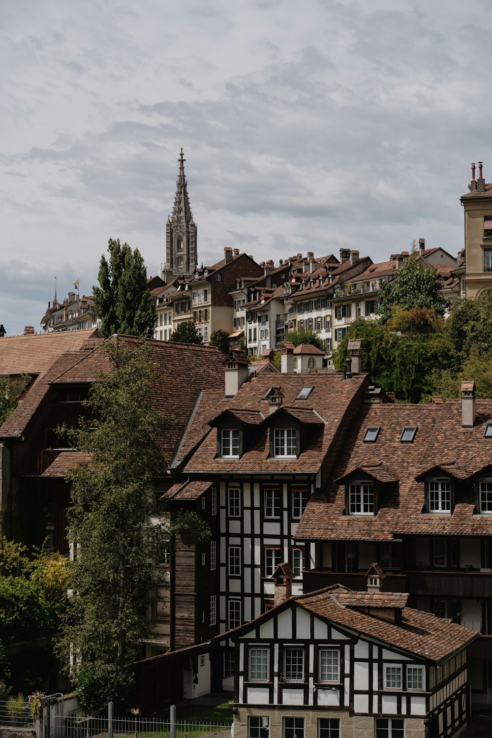
<path fill-rule="evenodd" d="M 491 38 L 488 0 L 0 0 L 0 323 L 91 294 L 108 238 L 159 274 L 181 146 L 199 263 L 456 255 Z"/>

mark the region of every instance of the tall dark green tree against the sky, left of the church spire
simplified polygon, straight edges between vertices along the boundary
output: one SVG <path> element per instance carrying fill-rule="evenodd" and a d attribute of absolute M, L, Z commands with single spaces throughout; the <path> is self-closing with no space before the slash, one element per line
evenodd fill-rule
<path fill-rule="evenodd" d="M 108 338 L 116 333 L 153 337 L 156 301 L 147 286 L 147 270 L 138 249 L 108 241 L 108 259 L 103 254 L 99 268 L 100 287 L 93 287 L 94 308 Z"/>

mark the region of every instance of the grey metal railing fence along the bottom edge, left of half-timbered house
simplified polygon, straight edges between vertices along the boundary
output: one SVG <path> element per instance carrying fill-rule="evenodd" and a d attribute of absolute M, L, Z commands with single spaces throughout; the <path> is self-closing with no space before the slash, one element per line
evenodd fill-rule
<path fill-rule="evenodd" d="M 52 715 L 44 721 L 43 738 L 212 738 L 231 737 L 231 723 L 143 720 L 141 717 L 77 717 Z"/>

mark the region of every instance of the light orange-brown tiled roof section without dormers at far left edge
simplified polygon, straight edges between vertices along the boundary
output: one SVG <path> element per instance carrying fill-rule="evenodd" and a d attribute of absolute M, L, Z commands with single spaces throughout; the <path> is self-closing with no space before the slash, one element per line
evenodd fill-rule
<path fill-rule="evenodd" d="M 88 339 L 100 339 L 97 328 L 87 331 L 11 336 L 0 341 L 0 376 L 43 374 L 64 351 L 78 351 Z"/>

